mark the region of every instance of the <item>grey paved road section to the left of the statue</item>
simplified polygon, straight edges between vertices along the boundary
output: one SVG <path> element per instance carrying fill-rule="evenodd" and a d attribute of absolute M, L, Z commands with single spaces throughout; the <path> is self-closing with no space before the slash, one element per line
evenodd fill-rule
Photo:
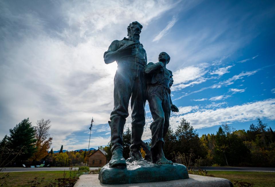
<path fill-rule="evenodd" d="M 97 170 L 98 167 L 90 167 L 90 170 Z M 3 172 L 35 172 L 35 171 L 69 171 L 69 167 L 7 167 Z"/>

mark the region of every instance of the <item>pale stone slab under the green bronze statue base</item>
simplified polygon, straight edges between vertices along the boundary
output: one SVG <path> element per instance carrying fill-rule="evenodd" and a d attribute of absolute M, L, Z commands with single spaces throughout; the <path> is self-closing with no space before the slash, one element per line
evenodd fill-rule
<path fill-rule="evenodd" d="M 189 174 L 188 179 L 183 180 L 173 180 L 173 181 L 165 181 L 165 182 L 146 182 L 146 183 L 135 183 L 135 184 L 102 184 L 98 180 L 98 175 L 81 175 L 79 180 L 76 182 L 74 187 L 102 187 L 102 186 L 119 186 L 119 187 L 233 187 L 233 184 L 223 178 L 216 178 L 216 177 L 205 177 L 199 175 L 191 175 Z"/>

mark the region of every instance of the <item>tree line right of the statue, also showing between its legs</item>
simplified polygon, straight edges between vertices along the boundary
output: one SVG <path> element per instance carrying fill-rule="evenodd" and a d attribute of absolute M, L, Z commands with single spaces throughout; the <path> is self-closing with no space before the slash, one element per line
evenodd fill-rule
<path fill-rule="evenodd" d="M 148 143 L 150 145 L 150 141 Z M 129 157 L 130 145 L 131 130 L 127 128 L 123 133 L 125 159 Z M 109 159 L 110 149 L 109 142 L 105 147 Z M 176 130 L 169 127 L 163 151 L 167 159 L 176 163 L 188 157 L 191 165 L 275 167 L 275 133 L 258 118 L 257 124 L 251 124 L 247 131 L 222 124 L 215 134 L 199 137 L 190 122 L 182 118 Z"/>

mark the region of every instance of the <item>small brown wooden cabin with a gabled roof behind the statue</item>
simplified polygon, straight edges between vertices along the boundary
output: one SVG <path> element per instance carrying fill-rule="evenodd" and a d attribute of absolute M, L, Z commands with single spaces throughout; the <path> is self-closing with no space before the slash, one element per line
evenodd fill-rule
<path fill-rule="evenodd" d="M 88 165 L 89 167 L 103 167 L 109 161 L 107 161 L 106 157 L 107 153 L 99 148 L 89 155 Z"/>

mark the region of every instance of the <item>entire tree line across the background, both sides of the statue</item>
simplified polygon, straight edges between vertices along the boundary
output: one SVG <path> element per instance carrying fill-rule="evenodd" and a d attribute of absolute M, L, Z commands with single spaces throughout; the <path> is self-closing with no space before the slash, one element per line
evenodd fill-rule
<path fill-rule="evenodd" d="M 93 153 L 91 150 L 63 152 L 62 145 L 58 153 L 48 151 L 52 145 L 50 122 L 41 119 L 32 126 L 29 118 L 22 120 L 0 141 L 0 159 L 6 160 L 9 166 L 14 163 L 16 166 L 34 165 L 42 161 L 51 166 L 85 165 L 87 157 Z M 125 159 L 129 157 L 130 145 L 131 130 L 127 128 L 123 133 Z M 107 152 L 107 160 L 110 160 L 111 143 L 100 149 Z M 167 159 L 177 163 L 182 162 L 183 156 L 189 156 L 191 164 L 201 166 L 275 167 L 275 133 L 258 118 L 257 124 L 251 124 L 246 131 L 222 124 L 215 134 L 199 137 L 190 122 L 182 118 L 175 130 L 169 127 L 163 151 Z M 141 152 L 145 157 L 145 151 L 141 149 Z"/>

